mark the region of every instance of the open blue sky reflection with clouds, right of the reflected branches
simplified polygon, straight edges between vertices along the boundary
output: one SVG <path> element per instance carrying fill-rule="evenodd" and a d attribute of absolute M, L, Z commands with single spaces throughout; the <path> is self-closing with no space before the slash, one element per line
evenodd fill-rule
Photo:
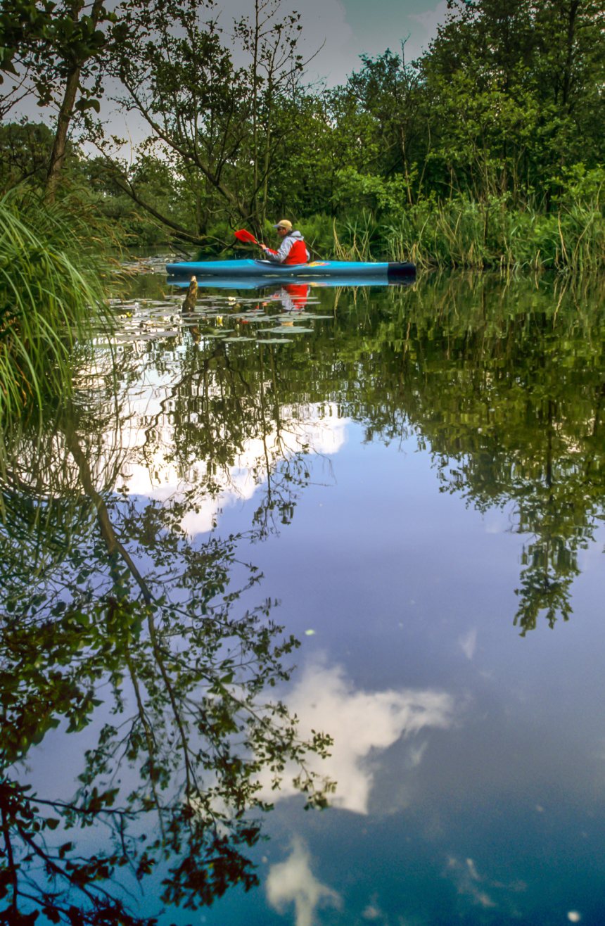
<path fill-rule="evenodd" d="M 305 922 L 314 897 L 317 926 L 605 921 L 605 530 L 569 621 L 521 638 L 510 509 L 440 493 L 413 439 L 352 423 L 333 466 L 255 561 L 303 641 L 288 705 L 334 736 L 334 807 L 273 793 L 265 891 L 208 923 Z"/>

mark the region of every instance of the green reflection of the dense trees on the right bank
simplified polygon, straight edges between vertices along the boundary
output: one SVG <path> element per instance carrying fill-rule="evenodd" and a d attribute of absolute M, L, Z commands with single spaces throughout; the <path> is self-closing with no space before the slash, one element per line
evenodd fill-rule
<path fill-rule="evenodd" d="M 333 340 L 280 369 L 284 401 L 332 400 L 366 439 L 429 446 L 443 491 L 512 506 L 523 549 L 515 618 L 571 612 L 577 553 L 602 510 L 605 319 L 599 281 L 449 278 L 347 307 Z"/>

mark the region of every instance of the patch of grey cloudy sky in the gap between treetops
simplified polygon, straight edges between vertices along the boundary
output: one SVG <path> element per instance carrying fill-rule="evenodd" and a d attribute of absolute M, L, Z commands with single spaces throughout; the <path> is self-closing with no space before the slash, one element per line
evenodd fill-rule
<path fill-rule="evenodd" d="M 252 9 L 253 0 L 217 0 L 214 6 L 225 31 Z M 321 49 L 309 76 L 334 85 L 359 69 L 361 54 L 398 52 L 406 40 L 406 60 L 421 55 L 446 17 L 447 0 L 283 0 L 281 9 L 301 14 L 304 56 Z"/>

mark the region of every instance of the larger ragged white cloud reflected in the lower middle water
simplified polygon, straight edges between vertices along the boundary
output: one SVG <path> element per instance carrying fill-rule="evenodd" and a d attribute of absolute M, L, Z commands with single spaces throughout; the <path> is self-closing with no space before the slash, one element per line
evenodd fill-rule
<path fill-rule="evenodd" d="M 330 757 L 311 756 L 309 769 L 337 782 L 332 800 L 335 807 L 367 813 L 373 773 L 368 757 L 429 727 L 447 728 L 452 721 L 453 699 L 449 694 L 409 689 L 383 692 L 356 691 L 343 669 L 316 666 L 308 669 L 287 699 L 291 713 L 299 720 L 302 737 L 323 731 L 334 737 Z M 410 765 L 422 761 L 425 745 L 412 749 Z M 292 783 L 296 771 L 286 768 L 279 792 L 271 792 L 266 775 L 261 783 L 268 800 L 296 794 Z M 264 789 L 263 789 L 264 790 Z"/>

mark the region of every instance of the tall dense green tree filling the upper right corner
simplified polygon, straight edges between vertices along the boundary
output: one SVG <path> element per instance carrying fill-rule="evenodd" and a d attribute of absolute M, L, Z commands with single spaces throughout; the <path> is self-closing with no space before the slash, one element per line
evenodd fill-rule
<path fill-rule="evenodd" d="M 510 193 L 516 204 L 544 193 L 548 204 L 563 165 L 603 157 L 602 8 L 592 0 L 449 6 L 421 59 L 443 182 L 475 198 Z"/>

